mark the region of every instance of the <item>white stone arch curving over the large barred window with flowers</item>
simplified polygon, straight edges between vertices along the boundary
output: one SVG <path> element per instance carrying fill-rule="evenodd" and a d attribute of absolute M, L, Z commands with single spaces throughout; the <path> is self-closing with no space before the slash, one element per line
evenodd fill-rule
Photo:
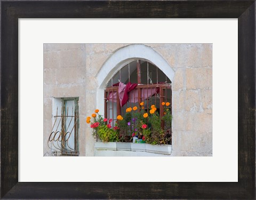
<path fill-rule="evenodd" d="M 117 71 L 137 59 L 147 60 L 161 69 L 165 75 L 173 82 L 174 70 L 169 63 L 149 46 L 143 44 L 131 44 L 115 51 L 101 67 L 96 75 L 98 82 L 97 88 L 97 108 L 104 110 L 104 93 L 108 81 L 114 76 Z"/>

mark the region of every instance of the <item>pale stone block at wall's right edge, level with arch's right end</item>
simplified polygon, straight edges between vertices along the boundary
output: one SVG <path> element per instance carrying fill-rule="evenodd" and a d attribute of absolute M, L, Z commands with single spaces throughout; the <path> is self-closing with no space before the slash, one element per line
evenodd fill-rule
<path fill-rule="evenodd" d="M 212 89 L 212 68 L 187 68 L 186 89 Z"/>

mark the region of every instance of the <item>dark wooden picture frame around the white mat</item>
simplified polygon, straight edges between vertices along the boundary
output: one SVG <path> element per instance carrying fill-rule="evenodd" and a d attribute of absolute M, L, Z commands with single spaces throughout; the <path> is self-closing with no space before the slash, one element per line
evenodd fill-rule
<path fill-rule="evenodd" d="M 238 182 L 18 182 L 19 18 L 238 18 Z M 255 199 L 255 0 L 1 0 L 0 197 Z"/>

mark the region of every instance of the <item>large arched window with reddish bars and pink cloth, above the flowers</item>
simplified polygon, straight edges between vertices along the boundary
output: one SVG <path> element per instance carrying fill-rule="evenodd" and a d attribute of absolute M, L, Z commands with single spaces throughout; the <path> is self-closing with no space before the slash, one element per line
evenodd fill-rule
<path fill-rule="evenodd" d="M 113 126 L 117 116 L 124 116 L 127 108 L 138 107 L 149 113 L 151 106 L 159 118 L 163 119 L 166 110 L 172 113 L 172 85 L 164 72 L 148 60 L 138 59 L 121 68 L 110 78 L 105 89 L 105 118 L 113 119 Z M 167 102 L 167 105 L 166 105 Z M 171 125 L 166 127 L 161 121 L 162 129 L 168 131 L 170 137 Z"/>

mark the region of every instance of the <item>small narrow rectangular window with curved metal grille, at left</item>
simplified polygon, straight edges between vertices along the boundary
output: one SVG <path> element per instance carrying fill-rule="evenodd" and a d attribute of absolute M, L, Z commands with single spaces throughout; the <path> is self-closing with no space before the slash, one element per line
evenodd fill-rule
<path fill-rule="evenodd" d="M 53 126 L 48 142 L 55 155 L 78 156 L 79 99 L 53 99 Z M 49 146 L 50 147 L 50 146 Z"/>

